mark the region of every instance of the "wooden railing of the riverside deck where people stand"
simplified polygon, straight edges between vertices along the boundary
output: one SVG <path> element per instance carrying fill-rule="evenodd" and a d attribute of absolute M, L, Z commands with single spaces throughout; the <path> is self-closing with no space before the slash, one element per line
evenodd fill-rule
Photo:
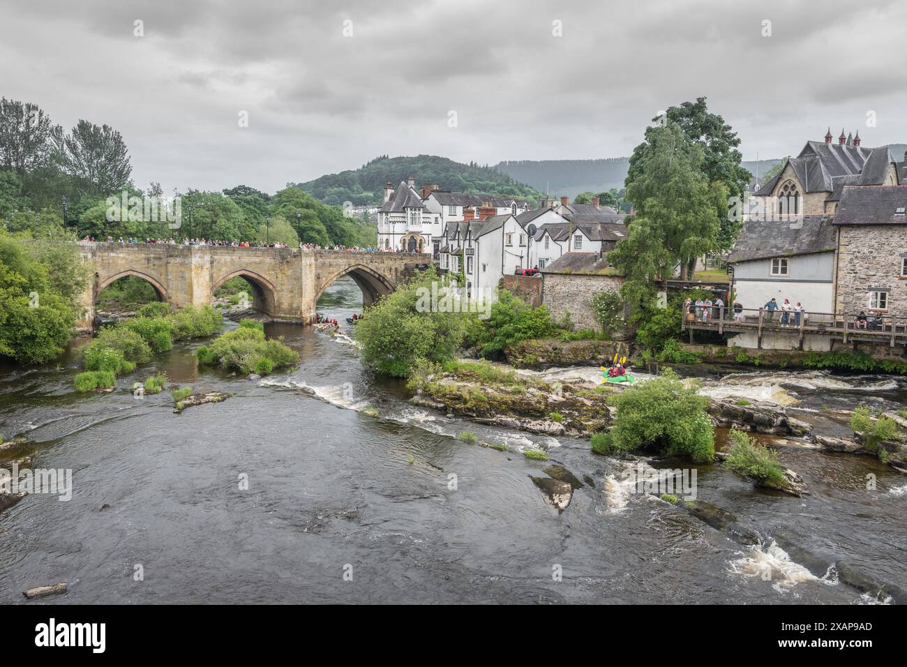
<path fill-rule="evenodd" d="M 756 332 L 759 347 L 764 333 L 799 334 L 800 343 L 805 334 L 824 335 L 849 339 L 878 340 L 894 347 L 907 345 L 907 318 L 892 317 L 888 313 L 824 313 L 811 310 L 734 309 L 732 306 L 697 307 L 693 312 L 684 307 L 680 313 L 681 330 L 712 330 L 718 333 Z"/>

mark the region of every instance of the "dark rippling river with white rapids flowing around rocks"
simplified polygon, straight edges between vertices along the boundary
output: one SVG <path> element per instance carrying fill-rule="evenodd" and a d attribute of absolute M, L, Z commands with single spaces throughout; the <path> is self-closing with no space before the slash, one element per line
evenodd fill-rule
<path fill-rule="evenodd" d="M 348 279 L 319 302 L 341 321 L 360 309 Z M 907 589 L 907 477 L 870 457 L 769 438 L 805 478 L 802 498 L 698 466 L 698 498 L 765 535 L 746 547 L 634 493 L 628 464 L 592 455 L 588 441 L 414 407 L 401 383 L 363 371 L 348 338 L 267 331 L 299 351 L 296 370 L 231 378 L 199 368 L 202 341 L 111 394 L 73 391 L 79 342 L 58 364 L 0 369 L 0 433 L 34 442 L 33 467 L 73 470 L 69 502 L 28 495 L 0 517 L 0 603 L 58 582 L 69 593 L 54 603 L 884 602 L 839 583 L 834 568 L 810 573 L 773 544 L 777 531 Z M 169 393 L 128 390 L 152 370 L 234 396 L 175 415 Z M 797 417 L 830 433 L 846 430 L 836 409 L 907 402 L 907 384 L 883 376 L 759 371 L 707 378 L 704 390 L 796 403 Z M 511 451 L 456 439 L 464 430 Z M 530 479 L 548 465 L 520 455 L 531 444 L 587 480 L 562 514 Z"/>

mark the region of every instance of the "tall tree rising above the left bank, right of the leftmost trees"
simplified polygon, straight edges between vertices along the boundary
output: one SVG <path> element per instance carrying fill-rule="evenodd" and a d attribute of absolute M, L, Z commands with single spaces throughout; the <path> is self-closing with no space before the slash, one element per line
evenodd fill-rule
<path fill-rule="evenodd" d="M 108 195 L 130 185 L 132 164 L 120 132 L 79 121 L 63 138 L 63 170 L 85 193 Z"/>

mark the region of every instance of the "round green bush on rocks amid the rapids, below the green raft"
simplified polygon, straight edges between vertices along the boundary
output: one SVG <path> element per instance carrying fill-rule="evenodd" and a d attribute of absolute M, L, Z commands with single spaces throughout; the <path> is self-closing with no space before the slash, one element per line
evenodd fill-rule
<path fill-rule="evenodd" d="M 617 415 L 610 444 L 616 451 L 654 447 L 694 461 L 710 461 L 715 456 L 715 436 L 706 412 L 708 402 L 697 394 L 695 383 L 687 386 L 667 368 L 658 378 L 615 395 Z"/>

